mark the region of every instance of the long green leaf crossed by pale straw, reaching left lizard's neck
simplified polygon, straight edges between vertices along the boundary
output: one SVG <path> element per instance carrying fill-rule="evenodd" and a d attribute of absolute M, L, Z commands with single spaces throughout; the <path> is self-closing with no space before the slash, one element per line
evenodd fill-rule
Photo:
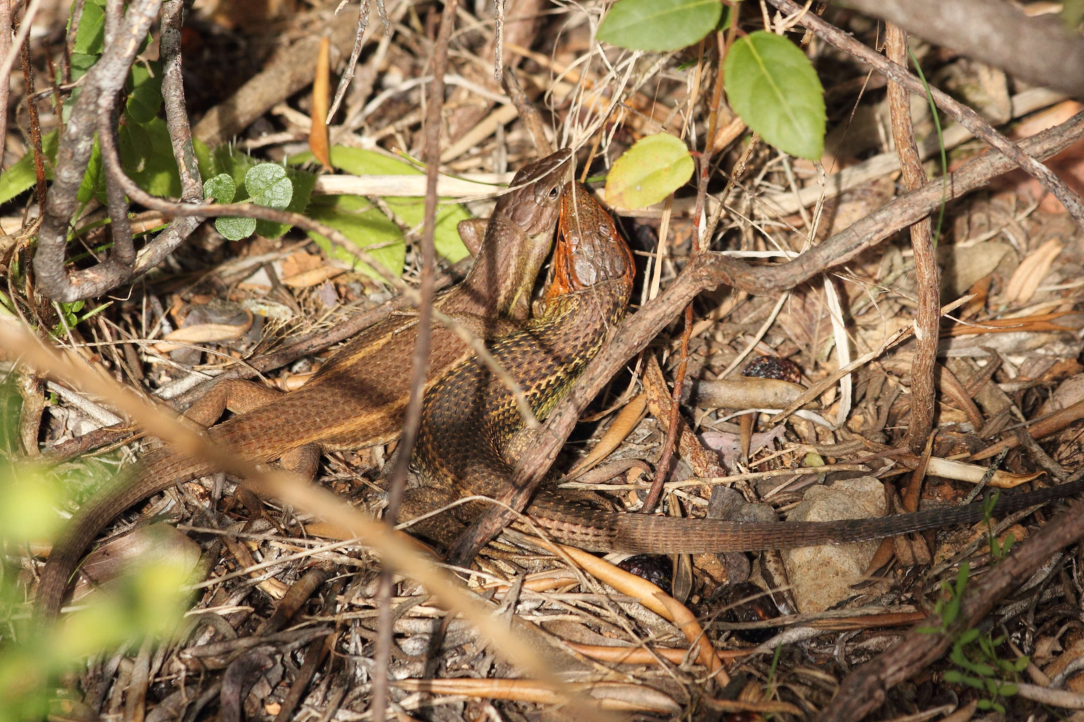
<path fill-rule="evenodd" d="M 421 175 L 422 171 L 402 160 L 389 158 L 374 150 L 348 148 L 335 145 L 331 148 L 332 165 L 352 175 Z M 312 154 L 293 156 L 287 162 L 300 163 L 312 160 Z M 385 198 L 388 209 L 396 218 L 411 228 L 421 231 L 425 220 L 424 198 Z M 433 244 L 437 253 L 455 263 L 469 252 L 456 228 L 460 221 L 470 218 L 470 213 L 460 204 L 448 204 L 437 209 L 437 225 Z"/>

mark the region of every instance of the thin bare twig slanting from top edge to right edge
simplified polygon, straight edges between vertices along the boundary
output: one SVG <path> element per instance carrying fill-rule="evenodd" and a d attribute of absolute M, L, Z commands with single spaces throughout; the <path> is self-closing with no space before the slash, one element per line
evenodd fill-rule
<path fill-rule="evenodd" d="M 911 92 L 917 95 L 926 95 L 926 88 L 922 86 L 922 82 L 908 73 L 905 67 L 896 65 L 883 55 L 879 55 L 847 32 L 829 25 L 813 13 L 802 13 L 802 6 L 792 0 L 767 0 L 767 2 L 788 15 L 797 17 L 800 14 L 801 17 L 798 22 L 816 32 L 817 36 L 829 44 L 869 65 L 889 80 L 894 80 Z M 1084 202 L 1054 171 L 1029 155 L 1019 145 L 991 128 L 990 123 L 983 120 L 971 108 L 957 102 L 937 88 L 931 87 L 929 91 L 939 108 L 975 133 L 976 136 L 982 139 L 992 147 L 997 148 L 1007 158 L 1011 158 L 1021 170 L 1033 176 L 1043 184 L 1043 187 L 1053 193 L 1076 223 L 1084 226 Z"/>

